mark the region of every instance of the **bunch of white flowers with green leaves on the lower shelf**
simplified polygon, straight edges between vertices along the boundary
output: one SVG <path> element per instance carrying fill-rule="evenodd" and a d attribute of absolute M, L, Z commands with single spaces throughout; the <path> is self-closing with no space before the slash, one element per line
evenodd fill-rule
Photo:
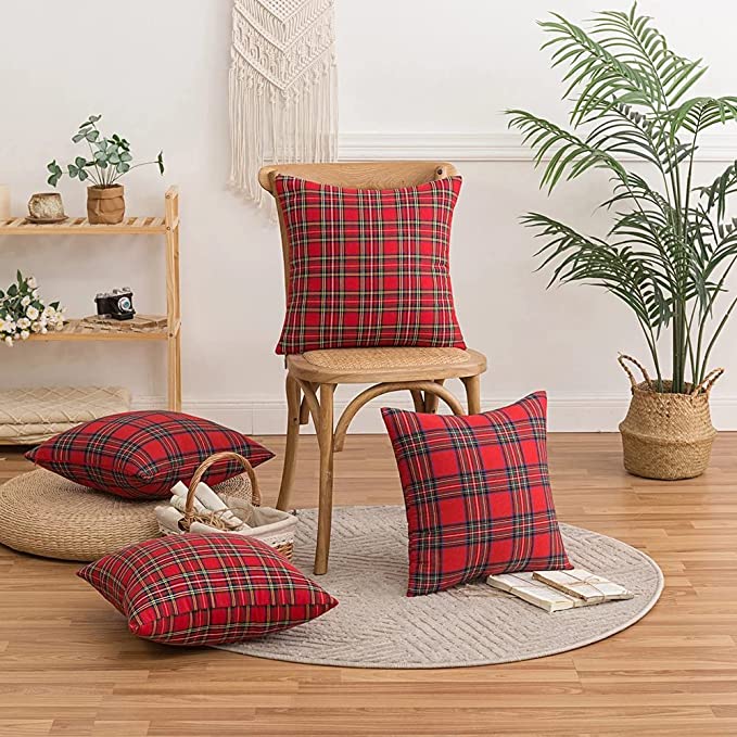
<path fill-rule="evenodd" d="M 0 341 L 12 346 L 31 333 L 46 334 L 64 327 L 64 307 L 59 302 L 45 305 L 34 277 L 17 272 L 16 282 L 0 290 Z"/>

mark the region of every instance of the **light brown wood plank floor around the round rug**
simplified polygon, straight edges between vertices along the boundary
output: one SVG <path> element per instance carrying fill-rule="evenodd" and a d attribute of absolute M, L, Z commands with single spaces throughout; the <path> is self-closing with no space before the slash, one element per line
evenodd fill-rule
<path fill-rule="evenodd" d="M 301 458 L 295 501 L 313 506 L 314 439 Z M 660 602 L 619 635 L 437 671 L 180 650 L 129 635 L 77 566 L 0 546 L 0 735 L 737 735 L 737 435 L 720 435 L 708 474 L 679 483 L 627 475 L 618 435 L 552 435 L 550 463 L 563 521 L 646 550 L 665 573 Z M 0 481 L 26 468 L 0 449 Z M 272 501 L 280 462 L 259 470 Z M 350 437 L 335 479 L 338 504 L 402 501 L 384 437 Z"/>

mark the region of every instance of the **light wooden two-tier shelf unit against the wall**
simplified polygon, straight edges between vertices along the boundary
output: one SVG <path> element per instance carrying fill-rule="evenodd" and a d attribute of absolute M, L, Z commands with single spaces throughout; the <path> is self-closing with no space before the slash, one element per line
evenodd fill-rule
<path fill-rule="evenodd" d="M 179 281 L 179 191 L 166 191 L 164 217 L 127 217 L 118 225 L 90 225 L 87 218 L 68 218 L 53 225 L 34 225 L 17 217 L 0 220 L 0 238 L 5 236 L 164 236 L 166 240 L 166 327 L 148 332 L 119 330 L 80 330 L 80 320 L 69 319 L 64 329 L 46 335 L 34 334 L 30 341 L 166 341 L 167 403 L 181 410 L 181 301 Z"/>

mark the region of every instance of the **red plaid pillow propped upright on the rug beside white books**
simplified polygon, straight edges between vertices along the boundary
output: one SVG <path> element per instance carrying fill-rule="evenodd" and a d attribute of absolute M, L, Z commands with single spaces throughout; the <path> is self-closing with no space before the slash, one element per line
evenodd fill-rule
<path fill-rule="evenodd" d="M 545 392 L 483 415 L 382 409 L 409 531 L 408 596 L 568 569 L 550 494 Z"/>

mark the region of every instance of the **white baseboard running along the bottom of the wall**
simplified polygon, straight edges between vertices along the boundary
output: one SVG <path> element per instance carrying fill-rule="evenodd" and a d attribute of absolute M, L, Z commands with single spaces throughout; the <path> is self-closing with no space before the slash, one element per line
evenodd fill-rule
<path fill-rule="evenodd" d="M 483 408 L 504 407 L 519 397 L 485 397 Z M 627 395 L 549 397 L 548 416 L 551 432 L 615 432 L 624 418 L 630 397 Z M 141 396 L 134 401 L 135 409 L 162 408 L 161 396 Z M 346 402 L 335 403 L 340 415 Z M 391 406 L 412 409 L 411 401 L 404 395 L 389 395 L 372 402 L 358 412 L 351 425 L 352 433 L 382 433 L 384 425 L 379 407 Z M 713 397 L 711 402 L 714 425 L 720 430 L 737 430 L 737 396 Z M 186 399 L 182 410 L 198 417 L 206 417 L 229 428 L 253 435 L 281 435 L 284 432 L 287 404 L 281 399 Z M 303 429 L 312 433 L 312 423 Z"/>

